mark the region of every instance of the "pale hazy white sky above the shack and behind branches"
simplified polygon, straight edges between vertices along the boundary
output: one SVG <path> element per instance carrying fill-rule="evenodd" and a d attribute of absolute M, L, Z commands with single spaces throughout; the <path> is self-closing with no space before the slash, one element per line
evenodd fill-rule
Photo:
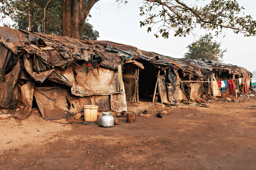
<path fill-rule="evenodd" d="M 127 0 L 126 5 L 120 9 L 114 5 L 115 0 L 99 1 L 90 11 L 92 18 L 89 23 L 99 31 L 98 40 L 107 40 L 135 46 L 145 51 L 154 51 L 163 55 L 182 58 L 188 50 L 186 46 L 195 41 L 193 35 L 188 37 L 174 37 L 170 32 L 168 39 L 159 37 L 156 39 L 155 29 L 147 33 L 147 27 L 140 28 L 139 22 L 144 20 L 140 16 L 139 0 Z M 244 6 L 245 15 L 251 15 L 256 20 L 256 0 L 237 0 L 240 6 Z M 187 4 L 209 3 L 210 0 L 185 0 Z M 215 32 L 215 31 L 214 31 Z M 197 30 L 198 35 L 203 35 L 204 30 Z M 160 36 L 160 34 L 158 33 Z M 222 42 L 222 48 L 227 48 L 224 63 L 239 65 L 248 70 L 256 70 L 256 37 L 244 37 L 242 34 L 234 34 L 232 30 L 226 30 L 226 37 L 214 38 Z"/>

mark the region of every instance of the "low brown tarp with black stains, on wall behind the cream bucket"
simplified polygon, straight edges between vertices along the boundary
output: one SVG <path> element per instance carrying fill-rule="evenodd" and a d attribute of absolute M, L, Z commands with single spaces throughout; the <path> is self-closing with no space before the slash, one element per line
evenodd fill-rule
<path fill-rule="evenodd" d="M 83 112 L 84 105 L 97 105 L 98 111 L 110 110 L 110 95 L 77 97 L 64 87 L 35 87 L 34 96 L 45 120 L 63 119 Z"/>

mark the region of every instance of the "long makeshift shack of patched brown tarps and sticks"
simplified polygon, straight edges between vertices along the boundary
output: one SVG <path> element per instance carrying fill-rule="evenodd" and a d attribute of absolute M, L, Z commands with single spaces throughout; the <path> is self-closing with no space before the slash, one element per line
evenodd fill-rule
<path fill-rule="evenodd" d="M 159 94 L 161 102 L 211 95 L 213 81 L 246 78 L 244 68 L 178 59 L 108 41 L 77 40 L 0 27 L 0 107 L 26 118 L 37 105 L 46 120 L 83 112 L 127 110 Z M 158 87 L 158 88 L 157 88 Z M 152 99 L 152 97 L 151 97 Z"/>

